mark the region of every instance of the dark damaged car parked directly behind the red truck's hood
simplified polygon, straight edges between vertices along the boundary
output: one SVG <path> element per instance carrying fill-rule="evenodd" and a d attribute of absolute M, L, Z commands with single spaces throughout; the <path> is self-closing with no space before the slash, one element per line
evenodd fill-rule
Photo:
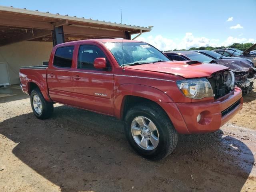
<path fill-rule="evenodd" d="M 171 51 L 164 52 L 171 60 L 185 61 L 195 60 L 202 63 L 221 64 L 230 68 L 235 75 L 235 84 L 242 89 L 244 93 L 248 93 L 254 89 L 254 78 L 256 72 L 246 60 L 236 59 L 213 59 L 197 51 Z"/>

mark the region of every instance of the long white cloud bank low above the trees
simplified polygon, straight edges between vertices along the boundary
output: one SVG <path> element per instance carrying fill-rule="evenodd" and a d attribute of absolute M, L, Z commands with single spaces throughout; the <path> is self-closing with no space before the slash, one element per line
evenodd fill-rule
<path fill-rule="evenodd" d="M 206 37 L 194 37 L 192 33 L 187 32 L 185 36 L 177 40 L 174 39 L 168 39 L 163 37 L 162 35 L 157 36 L 148 36 L 147 38 L 144 38 L 142 36 L 136 38 L 136 40 L 141 40 L 144 42 L 147 42 L 149 44 L 152 44 L 159 50 L 174 50 L 174 49 L 189 49 L 191 47 L 201 47 L 201 46 L 229 46 L 233 43 L 255 43 L 256 39 L 246 39 L 246 38 L 235 38 L 232 36 L 229 36 L 226 40 L 220 42 L 219 39 L 208 39 Z"/>

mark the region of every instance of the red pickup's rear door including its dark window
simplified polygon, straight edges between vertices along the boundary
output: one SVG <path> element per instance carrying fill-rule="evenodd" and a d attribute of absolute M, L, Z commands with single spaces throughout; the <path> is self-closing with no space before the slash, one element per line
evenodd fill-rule
<path fill-rule="evenodd" d="M 74 105 L 72 65 L 74 45 L 56 49 L 53 62 L 47 70 L 47 83 L 50 98 L 54 102 Z"/>

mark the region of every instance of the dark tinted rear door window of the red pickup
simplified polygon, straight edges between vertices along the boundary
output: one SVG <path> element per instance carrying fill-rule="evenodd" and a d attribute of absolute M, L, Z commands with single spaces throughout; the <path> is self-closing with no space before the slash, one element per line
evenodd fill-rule
<path fill-rule="evenodd" d="M 57 48 L 53 65 L 58 68 L 71 68 L 73 58 L 74 46 Z"/>

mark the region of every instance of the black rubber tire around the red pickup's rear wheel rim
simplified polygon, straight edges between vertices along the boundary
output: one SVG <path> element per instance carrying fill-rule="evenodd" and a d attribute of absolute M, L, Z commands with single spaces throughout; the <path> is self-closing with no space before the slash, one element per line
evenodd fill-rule
<path fill-rule="evenodd" d="M 42 110 L 40 113 L 36 112 L 35 108 L 34 108 L 34 104 L 33 104 L 33 97 L 34 96 L 38 96 L 40 98 L 40 103 L 42 105 Z M 39 88 L 34 88 L 30 94 L 30 104 L 32 107 L 32 110 L 34 112 L 34 115 L 38 118 L 38 119 L 48 119 L 50 118 L 50 116 L 52 116 L 52 112 L 53 112 L 53 103 L 52 102 L 47 102 L 44 99 L 44 96 L 42 95 L 41 91 L 39 90 Z"/>

